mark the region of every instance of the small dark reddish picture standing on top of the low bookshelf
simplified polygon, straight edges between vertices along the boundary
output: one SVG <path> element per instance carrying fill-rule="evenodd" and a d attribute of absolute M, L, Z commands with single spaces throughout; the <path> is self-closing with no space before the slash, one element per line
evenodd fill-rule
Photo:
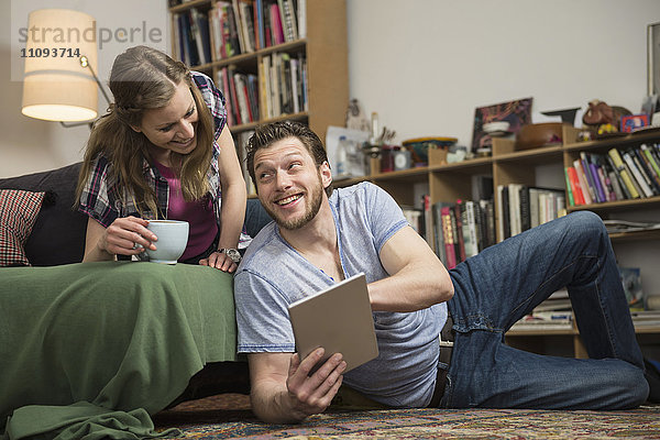
<path fill-rule="evenodd" d="M 531 123 L 531 101 L 532 98 L 524 98 L 493 106 L 477 107 L 474 111 L 472 152 L 476 153 L 480 148 L 492 147 L 493 140 L 483 129 L 486 123 L 508 122 L 507 132 L 509 134 L 517 134 L 522 125 Z"/>

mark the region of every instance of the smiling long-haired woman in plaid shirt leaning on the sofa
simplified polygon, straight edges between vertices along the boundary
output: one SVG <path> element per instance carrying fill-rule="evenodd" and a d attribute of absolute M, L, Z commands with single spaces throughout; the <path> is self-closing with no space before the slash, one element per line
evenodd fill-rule
<path fill-rule="evenodd" d="M 77 186 L 89 216 L 84 261 L 142 258 L 158 245 L 148 220 L 175 219 L 190 224 L 179 262 L 235 271 L 246 196 L 222 94 L 146 46 L 117 57 L 109 85 L 114 102 L 92 129 Z"/>

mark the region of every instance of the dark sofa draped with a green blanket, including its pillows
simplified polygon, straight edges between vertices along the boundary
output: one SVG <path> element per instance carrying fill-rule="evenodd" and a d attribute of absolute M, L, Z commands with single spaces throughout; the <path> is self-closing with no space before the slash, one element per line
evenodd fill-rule
<path fill-rule="evenodd" d="M 80 165 L 0 179 L 0 438 L 156 437 L 162 409 L 249 393 L 230 274 L 80 263 Z M 271 220 L 256 199 L 246 219 Z"/>

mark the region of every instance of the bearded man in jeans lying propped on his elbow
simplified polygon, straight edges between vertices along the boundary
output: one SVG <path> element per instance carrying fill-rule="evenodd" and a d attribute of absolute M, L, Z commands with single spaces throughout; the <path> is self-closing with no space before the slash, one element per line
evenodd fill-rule
<path fill-rule="evenodd" d="M 619 409 L 647 398 L 614 252 L 594 213 L 542 224 L 448 272 L 384 190 L 332 190 L 323 145 L 305 125 L 260 127 L 248 148 L 258 198 L 275 219 L 234 278 L 239 352 L 248 353 L 263 420 L 322 413 L 342 383 L 393 407 Z M 343 374 L 334 353 L 309 374 L 323 350 L 294 353 L 287 306 L 360 272 L 380 355 Z M 562 287 L 591 359 L 506 345 L 505 332 Z M 453 348 L 440 346 L 441 333 Z"/>

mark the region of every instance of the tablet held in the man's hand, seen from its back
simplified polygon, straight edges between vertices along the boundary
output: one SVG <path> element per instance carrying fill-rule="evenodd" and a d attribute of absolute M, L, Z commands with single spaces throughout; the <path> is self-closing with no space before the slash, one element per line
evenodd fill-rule
<path fill-rule="evenodd" d="M 288 310 L 301 360 L 322 346 L 326 354 L 317 367 L 332 354 L 341 353 L 349 372 L 378 355 L 363 273 L 297 300 Z"/>

